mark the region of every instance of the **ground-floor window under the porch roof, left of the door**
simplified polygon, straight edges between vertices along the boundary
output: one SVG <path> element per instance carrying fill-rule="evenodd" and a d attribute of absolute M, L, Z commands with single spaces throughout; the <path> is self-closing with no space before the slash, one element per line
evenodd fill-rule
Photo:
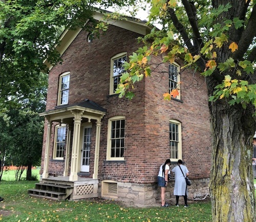
<path fill-rule="evenodd" d="M 63 159 L 66 141 L 66 125 L 55 127 L 54 159 Z"/>

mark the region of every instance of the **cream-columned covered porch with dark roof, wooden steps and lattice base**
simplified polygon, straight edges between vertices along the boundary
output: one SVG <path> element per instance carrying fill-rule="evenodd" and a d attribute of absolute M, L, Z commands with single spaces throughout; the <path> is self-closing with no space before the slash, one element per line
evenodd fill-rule
<path fill-rule="evenodd" d="M 99 165 L 99 141 L 101 119 L 106 114 L 106 110 L 90 100 L 81 103 L 59 106 L 54 110 L 40 113 L 47 120 L 47 135 L 45 144 L 45 155 L 43 159 L 44 170 L 40 176 L 40 183 L 36 184 L 35 189 L 30 189 L 30 195 L 42 196 L 56 200 L 62 199 L 84 199 L 98 196 L 98 165 Z M 93 124 L 92 124 L 93 122 Z M 55 125 L 55 131 L 53 125 Z M 56 140 L 56 127 L 67 126 L 65 130 L 65 145 L 62 147 L 63 155 L 61 158 L 54 156 L 56 150 L 53 149 Z M 84 163 L 84 155 L 90 155 L 83 151 L 83 130 L 93 127 L 94 147 L 92 157 Z M 95 129 L 96 128 L 96 129 Z M 54 139 L 51 138 L 54 136 Z M 91 140 L 92 135 L 88 138 Z M 64 143 L 64 142 L 63 142 Z M 89 153 L 89 154 L 88 154 Z M 53 165 L 58 166 L 55 169 Z M 91 163 L 91 164 L 90 164 Z M 88 164 L 84 166 L 82 164 Z M 50 172 L 49 173 L 49 165 Z M 91 166 L 90 166 L 91 165 Z M 61 173 L 59 173 L 61 171 Z M 52 173 L 54 172 L 54 174 Z"/>

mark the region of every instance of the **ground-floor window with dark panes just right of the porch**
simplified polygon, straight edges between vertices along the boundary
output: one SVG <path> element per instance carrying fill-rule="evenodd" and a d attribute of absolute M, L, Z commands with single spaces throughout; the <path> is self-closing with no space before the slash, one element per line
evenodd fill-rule
<path fill-rule="evenodd" d="M 124 116 L 109 119 L 108 125 L 108 160 L 124 160 Z"/>

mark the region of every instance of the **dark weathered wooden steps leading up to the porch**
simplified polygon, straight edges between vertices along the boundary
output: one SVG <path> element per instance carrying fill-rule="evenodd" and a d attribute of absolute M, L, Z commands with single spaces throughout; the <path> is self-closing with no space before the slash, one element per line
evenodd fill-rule
<path fill-rule="evenodd" d="M 65 200 L 73 192 L 73 186 L 51 183 L 36 183 L 35 189 L 29 189 L 31 196 L 49 198 L 52 200 Z"/>

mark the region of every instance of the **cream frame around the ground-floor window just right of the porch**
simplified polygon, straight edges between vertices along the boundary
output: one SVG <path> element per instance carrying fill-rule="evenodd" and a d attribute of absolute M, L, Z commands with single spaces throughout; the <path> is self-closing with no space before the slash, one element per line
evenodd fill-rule
<path fill-rule="evenodd" d="M 106 160 L 124 160 L 124 157 L 111 157 L 111 144 L 112 144 L 112 122 L 116 120 L 125 120 L 124 116 L 114 116 L 109 119 L 108 122 L 108 142 L 106 149 Z M 120 137 L 124 139 L 124 147 L 125 147 L 125 122 L 124 122 L 124 137 Z M 124 148 L 123 148 L 124 149 Z"/>

